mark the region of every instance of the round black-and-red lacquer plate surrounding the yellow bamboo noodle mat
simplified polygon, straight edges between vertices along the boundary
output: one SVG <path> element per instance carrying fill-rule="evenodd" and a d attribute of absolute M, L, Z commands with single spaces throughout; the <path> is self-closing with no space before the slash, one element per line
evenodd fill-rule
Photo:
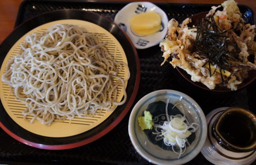
<path fill-rule="evenodd" d="M 8 109 L 4 104 L 5 100 L 3 97 L 1 97 L 0 126 L 7 134 L 20 141 L 21 143 L 25 143 L 40 149 L 71 149 L 89 144 L 107 134 L 125 117 L 127 112 L 129 112 L 139 88 L 140 63 L 137 50 L 133 46 L 132 41 L 127 36 L 127 34 L 112 20 L 93 12 L 85 12 L 80 10 L 59 10 L 38 15 L 35 18 L 22 23 L 17 28 L 15 28 L 10 36 L 7 37 L 1 44 L 1 65 L 4 65 L 5 57 L 8 56 L 8 53 L 11 51 L 12 47 L 14 47 L 19 39 L 25 36 L 25 34 L 28 32 L 52 22 L 67 21 L 68 23 L 70 20 L 73 24 L 83 24 L 85 22 L 86 25 L 94 24 L 96 28 L 102 28 L 103 31 L 106 31 L 106 33 L 108 33 L 110 36 L 110 40 L 111 37 L 114 37 L 113 39 L 118 41 L 118 46 L 120 49 L 122 49 L 120 54 L 122 54 L 122 52 L 124 53 L 125 61 L 129 65 L 130 70 L 130 79 L 126 84 L 127 100 L 123 105 L 118 106 L 113 112 L 111 112 L 111 114 L 109 114 L 105 119 L 103 119 L 100 123 L 93 126 L 92 128 L 85 129 L 85 131 L 78 131 L 74 134 L 66 134 L 62 136 L 54 132 L 52 132 L 52 134 L 55 135 L 51 135 L 51 132 L 45 134 L 44 132 L 40 132 L 41 130 L 39 128 L 39 130 L 35 128 L 35 131 L 31 131 L 32 129 L 28 129 L 23 125 L 21 126 L 19 122 L 16 121 L 15 116 L 10 116 Z M 19 106 L 20 105 L 18 104 L 16 107 Z M 29 127 L 33 126 L 36 126 L 36 124 L 31 124 Z M 65 134 L 65 129 L 62 129 L 62 133 Z"/>

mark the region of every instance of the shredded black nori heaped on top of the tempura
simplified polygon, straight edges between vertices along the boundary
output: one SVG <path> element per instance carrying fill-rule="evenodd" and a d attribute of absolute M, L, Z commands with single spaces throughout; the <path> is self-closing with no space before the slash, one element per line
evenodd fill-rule
<path fill-rule="evenodd" d="M 219 28 L 213 15 L 207 16 L 200 22 L 197 21 L 195 28 L 197 29 L 196 39 L 190 40 L 194 44 L 193 52 L 207 58 L 207 62 L 202 67 L 209 65 L 210 76 L 219 68 L 221 80 L 225 86 L 222 71 L 225 73 L 226 65 L 229 65 L 227 60 L 237 60 L 229 54 L 228 45 L 232 44 L 227 37 L 227 31 Z M 216 66 L 213 73 L 211 73 L 210 64 Z"/>

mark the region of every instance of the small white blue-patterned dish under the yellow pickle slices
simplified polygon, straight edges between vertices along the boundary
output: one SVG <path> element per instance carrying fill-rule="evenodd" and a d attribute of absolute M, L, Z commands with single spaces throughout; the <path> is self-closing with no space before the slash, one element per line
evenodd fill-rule
<path fill-rule="evenodd" d="M 137 36 L 131 30 L 130 19 L 132 16 L 143 12 L 156 12 L 161 16 L 162 29 L 148 36 Z M 115 16 L 114 20 L 131 38 L 137 49 L 146 49 L 155 46 L 162 41 L 167 32 L 168 19 L 165 12 L 150 2 L 132 2 L 124 6 Z"/>

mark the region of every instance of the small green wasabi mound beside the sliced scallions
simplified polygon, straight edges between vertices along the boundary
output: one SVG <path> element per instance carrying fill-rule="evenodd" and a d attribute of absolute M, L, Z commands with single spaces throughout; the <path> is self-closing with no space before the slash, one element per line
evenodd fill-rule
<path fill-rule="evenodd" d="M 153 121 L 152 121 L 152 115 L 149 111 L 144 111 L 144 116 L 140 116 L 138 118 L 139 125 L 142 130 L 144 129 L 152 129 L 153 128 Z"/>

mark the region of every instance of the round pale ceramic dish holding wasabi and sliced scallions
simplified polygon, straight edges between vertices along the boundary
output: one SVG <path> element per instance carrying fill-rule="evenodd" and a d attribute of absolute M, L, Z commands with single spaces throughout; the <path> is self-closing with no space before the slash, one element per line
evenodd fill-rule
<path fill-rule="evenodd" d="M 164 144 L 163 140 L 156 142 L 153 137 L 154 135 L 148 134 L 150 131 L 152 132 L 154 128 L 152 130 L 146 129 L 142 131 L 138 122 L 138 118 L 143 115 L 145 110 L 149 110 L 151 114 L 157 114 L 159 113 L 158 111 L 162 111 L 163 107 L 161 108 L 161 106 L 157 107 L 157 110 L 154 108 L 155 103 L 157 102 L 158 105 L 158 101 L 162 101 L 160 103 L 165 106 L 167 99 L 170 99 L 169 103 L 172 103 L 173 105 L 179 102 L 183 106 L 185 116 L 189 123 L 195 122 L 199 125 L 199 128 L 196 130 L 194 135 L 190 135 L 194 136 L 194 139 L 190 141 L 190 146 L 187 145 L 185 153 L 183 153 L 179 159 L 178 154 L 175 154 L 173 151 L 166 149 L 166 145 Z M 153 104 L 150 105 L 150 103 Z M 152 105 L 154 106 L 148 109 L 149 105 L 150 107 Z M 180 105 L 178 105 L 177 108 L 180 110 Z M 162 112 L 160 112 L 158 116 L 154 116 L 152 114 L 154 123 L 159 123 L 159 120 L 166 120 L 166 114 L 164 112 L 162 114 L 161 113 Z M 168 113 L 168 115 L 177 115 L 172 114 L 175 113 L 175 110 L 169 110 Z M 158 121 L 156 121 L 156 119 L 158 119 Z M 128 129 L 129 136 L 135 150 L 144 159 L 154 164 L 184 164 L 189 162 L 190 160 L 194 159 L 196 155 L 201 151 L 207 135 L 207 123 L 202 109 L 188 95 L 174 90 L 159 90 L 151 92 L 140 99 L 132 109 Z"/>

